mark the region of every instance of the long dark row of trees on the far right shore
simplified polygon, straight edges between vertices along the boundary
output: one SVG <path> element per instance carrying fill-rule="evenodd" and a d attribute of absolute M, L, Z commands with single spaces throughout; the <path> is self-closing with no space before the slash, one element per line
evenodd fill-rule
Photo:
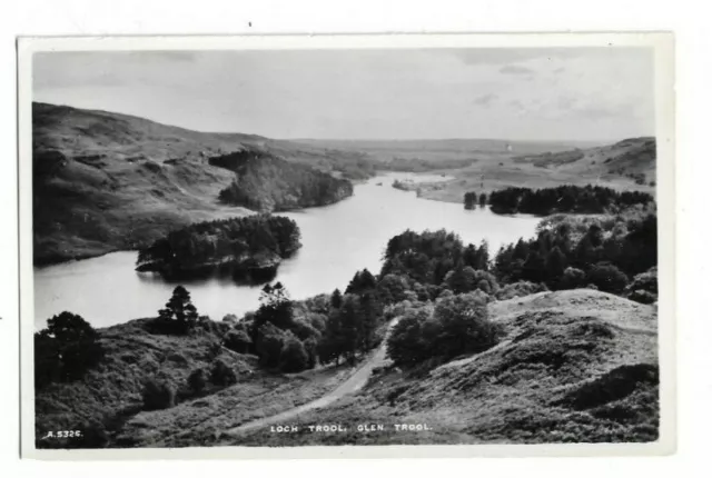
<path fill-rule="evenodd" d="M 634 205 L 653 202 L 651 195 L 640 191 L 619 192 L 601 186 L 558 186 L 556 188 L 506 188 L 490 195 L 496 213 L 548 216 L 554 212 L 602 213 Z"/>

